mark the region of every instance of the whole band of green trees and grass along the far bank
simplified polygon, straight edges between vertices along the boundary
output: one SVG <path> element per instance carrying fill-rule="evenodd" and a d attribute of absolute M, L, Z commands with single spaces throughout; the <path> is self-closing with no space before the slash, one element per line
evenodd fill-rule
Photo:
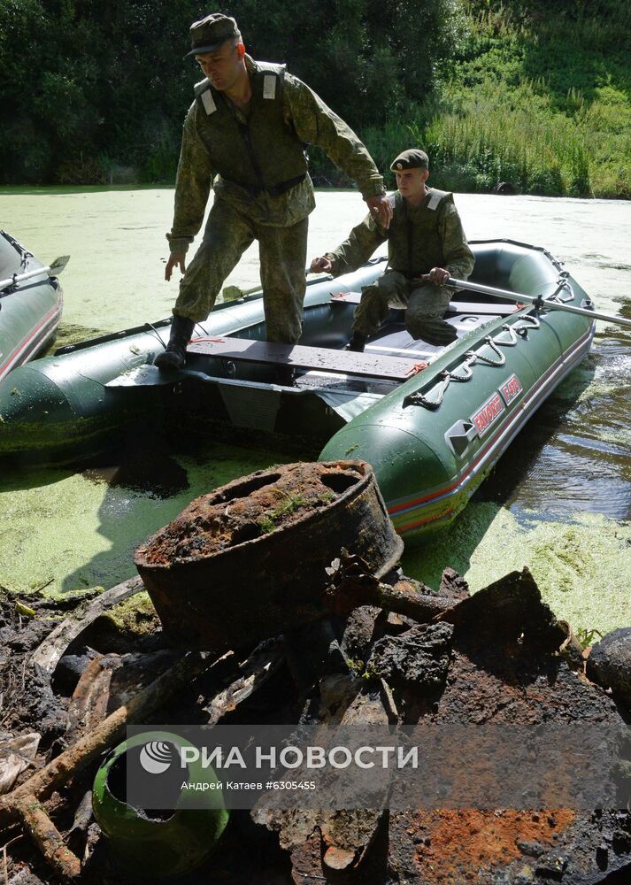
<path fill-rule="evenodd" d="M 234 0 L 256 58 L 283 60 L 387 169 L 432 182 L 631 198 L 631 7 L 619 0 Z M 0 182 L 173 181 L 199 79 L 192 0 L 3 0 Z M 319 183 L 343 184 L 317 150 Z M 391 183 L 391 182 L 390 182 Z"/>

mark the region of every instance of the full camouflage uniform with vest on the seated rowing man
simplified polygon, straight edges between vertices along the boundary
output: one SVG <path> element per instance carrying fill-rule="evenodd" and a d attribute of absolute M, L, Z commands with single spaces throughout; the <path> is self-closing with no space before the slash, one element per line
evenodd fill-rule
<path fill-rule="evenodd" d="M 353 227 L 348 240 L 327 252 L 333 273 L 338 276 L 363 265 L 377 246 L 388 240 L 389 268 L 375 284 L 362 289 L 353 332 L 366 338 L 374 335 L 390 307 L 404 307 L 405 327 L 412 338 L 449 344 L 456 332 L 442 317 L 450 303 L 450 289 L 416 280 L 432 267 L 443 267 L 461 280 L 473 270 L 475 259 L 453 196 L 427 188 L 427 196 L 416 207 L 398 193 L 389 199 L 394 214 L 388 230 L 366 215 Z"/>

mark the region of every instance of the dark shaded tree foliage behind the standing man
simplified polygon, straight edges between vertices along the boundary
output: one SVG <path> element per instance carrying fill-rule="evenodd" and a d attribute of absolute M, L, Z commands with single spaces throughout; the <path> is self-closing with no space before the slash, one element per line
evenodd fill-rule
<path fill-rule="evenodd" d="M 287 62 L 354 128 L 431 92 L 462 17 L 457 0 L 234 0 L 255 58 Z M 0 181 L 97 183 L 117 165 L 173 177 L 199 79 L 192 0 L 3 0 Z"/>

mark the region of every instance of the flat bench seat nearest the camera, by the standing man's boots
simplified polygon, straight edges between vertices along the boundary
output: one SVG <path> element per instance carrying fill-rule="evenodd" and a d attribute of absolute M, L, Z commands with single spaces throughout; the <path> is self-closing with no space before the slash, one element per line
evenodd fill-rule
<path fill-rule="evenodd" d="M 249 338 L 197 338 L 189 353 L 204 357 L 271 363 L 319 372 L 359 375 L 387 381 L 408 381 L 425 364 L 413 357 L 389 357 L 353 350 L 330 350 L 302 344 L 252 341 Z"/>

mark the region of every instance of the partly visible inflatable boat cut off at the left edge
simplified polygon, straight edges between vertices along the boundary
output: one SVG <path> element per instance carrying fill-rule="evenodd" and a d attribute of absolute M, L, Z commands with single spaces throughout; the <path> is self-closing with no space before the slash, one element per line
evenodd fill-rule
<path fill-rule="evenodd" d="M 50 268 L 0 230 L 0 380 L 52 341 L 63 296 Z"/>

